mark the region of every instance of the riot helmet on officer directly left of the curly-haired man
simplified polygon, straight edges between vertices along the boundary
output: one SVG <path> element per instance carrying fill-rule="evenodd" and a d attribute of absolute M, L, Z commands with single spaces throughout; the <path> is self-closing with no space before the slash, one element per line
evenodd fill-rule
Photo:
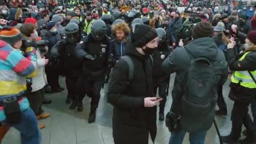
<path fill-rule="evenodd" d="M 107 25 L 102 20 L 96 20 L 91 26 L 91 35 L 96 41 L 104 40 L 106 33 Z"/>

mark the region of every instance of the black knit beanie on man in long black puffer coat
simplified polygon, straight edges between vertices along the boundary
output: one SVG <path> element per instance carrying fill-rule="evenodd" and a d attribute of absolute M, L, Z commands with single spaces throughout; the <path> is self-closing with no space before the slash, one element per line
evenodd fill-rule
<path fill-rule="evenodd" d="M 134 32 L 131 34 L 132 44 L 141 48 L 142 46 L 154 40 L 157 37 L 157 32 L 152 27 L 145 24 L 137 24 Z"/>

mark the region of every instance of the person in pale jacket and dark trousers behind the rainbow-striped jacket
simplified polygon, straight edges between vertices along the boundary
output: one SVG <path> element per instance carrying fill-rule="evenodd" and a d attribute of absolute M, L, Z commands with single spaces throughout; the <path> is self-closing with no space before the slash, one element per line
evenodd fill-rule
<path fill-rule="evenodd" d="M 29 48 L 33 48 L 33 41 L 35 40 L 36 28 L 32 23 L 22 24 L 20 31 L 23 34 L 21 49 L 26 51 Z M 42 103 L 51 103 L 51 100 L 44 97 L 44 86 L 46 85 L 44 78 L 44 67 L 48 64 L 48 59 L 42 59 L 40 52 L 33 48 L 37 55 L 37 76 L 30 79 L 30 83 L 27 83 L 27 93 L 25 96 L 29 100 L 29 105 L 34 111 L 37 119 L 44 119 L 50 117 L 50 114 L 44 113 L 42 109 Z M 39 128 L 45 128 L 45 125 L 39 123 Z"/>

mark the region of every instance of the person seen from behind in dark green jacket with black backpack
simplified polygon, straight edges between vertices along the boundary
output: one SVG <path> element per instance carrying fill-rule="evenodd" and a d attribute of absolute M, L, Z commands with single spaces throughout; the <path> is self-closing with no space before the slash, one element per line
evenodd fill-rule
<path fill-rule="evenodd" d="M 212 39 L 211 24 L 201 21 L 191 33 L 193 40 L 184 47 L 180 40 L 162 64 L 164 72 L 176 72 L 171 110 L 165 119 L 171 132 L 169 144 L 182 144 L 186 133 L 190 144 L 204 144 L 214 121 L 217 84 L 227 68 L 224 53 Z"/>

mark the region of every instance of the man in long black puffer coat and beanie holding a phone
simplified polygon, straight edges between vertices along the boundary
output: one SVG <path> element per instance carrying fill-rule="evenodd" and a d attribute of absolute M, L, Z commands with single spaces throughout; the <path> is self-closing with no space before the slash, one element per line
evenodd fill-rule
<path fill-rule="evenodd" d="M 157 47 L 157 33 L 147 25 L 138 24 L 131 38 L 126 55 L 133 63 L 133 78 L 128 80 L 128 63 L 120 59 L 109 79 L 107 99 L 114 106 L 113 138 L 115 144 L 148 144 L 149 133 L 155 141 L 156 105 L 161 101 L 154 97 L 149 58 Z"/>

